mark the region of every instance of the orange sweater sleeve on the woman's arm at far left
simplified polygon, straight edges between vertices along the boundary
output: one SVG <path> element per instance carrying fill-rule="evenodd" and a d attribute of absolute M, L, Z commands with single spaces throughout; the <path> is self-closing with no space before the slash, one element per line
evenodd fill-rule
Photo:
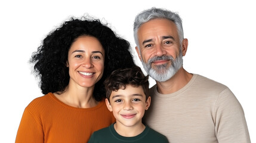
<path fill-rule="evenodd" d="M 42 125 L 39 122 L 36 122 L 35 118 L 27 108 L 24 110 L 21 118 L 15 142 L 44 142 Z"/>

